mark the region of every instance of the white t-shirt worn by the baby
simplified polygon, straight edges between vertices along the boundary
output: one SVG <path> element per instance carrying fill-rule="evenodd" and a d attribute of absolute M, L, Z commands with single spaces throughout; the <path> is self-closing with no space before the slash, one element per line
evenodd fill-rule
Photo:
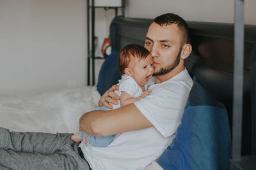
<path fill-rule="evenodd" d="M 118 94 L 118 96 L 121 96 L 121 92 L 127 92 L 131 97 L 139 97 L 141 94 L 143 94 L 143 91 L 141 90 L 138 83 L 131 77 L 127 75 L 123 75 L 121 80 L 118 80 L 119 90 L 116 90 L 115 93 Z M 147 89 L 148 84 L 145 85 L 145 89 Z M 120 101 L 118 101 L 118 104 L 113 104 L 113 109 L 117 109 L 121 107 Z M 111 110 L 113 110 L 111 109 Z"/>

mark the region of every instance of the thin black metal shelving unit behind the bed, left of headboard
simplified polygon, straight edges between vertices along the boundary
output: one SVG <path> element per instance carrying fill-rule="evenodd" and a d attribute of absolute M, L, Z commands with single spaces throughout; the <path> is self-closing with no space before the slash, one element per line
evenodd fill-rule
<path fill-rule="evenodd" d="M 90 76 L 92 71 L 92 85 L 95 85 L 95 59 L 104 59 L 102 57 L 95 56 L 95 9 L 104 8 L 105 10 L 115 10 L 115 17 L 118 16 L 118 9 L 122 9 L 122 15 L 124 16 L 124 4 L 125 0 L 122 0 L 122 6 L 95 6 L 94 0 L 87 0 L 87 85 L 91 85 Z M 91 15 L 90 15 L 91 12 Z M 91 33 L 90 33 L 91 30 Z M 91 68 L 92 64 L 92 68 Z"/>

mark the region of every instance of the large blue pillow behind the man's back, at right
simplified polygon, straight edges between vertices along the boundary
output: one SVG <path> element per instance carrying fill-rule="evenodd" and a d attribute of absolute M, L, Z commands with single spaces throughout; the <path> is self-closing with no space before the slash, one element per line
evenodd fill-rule
<path fill-rule="evenodd" d="M 163 169 L 229 169 L 227 110 L 193 81 L 176 137 L 157 162 Z"/>

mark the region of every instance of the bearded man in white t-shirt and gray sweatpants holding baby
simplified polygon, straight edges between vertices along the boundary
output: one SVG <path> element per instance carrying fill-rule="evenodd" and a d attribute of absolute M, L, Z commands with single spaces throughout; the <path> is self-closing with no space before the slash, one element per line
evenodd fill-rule
<path fill-rule="evenodd" d="M 8 169 L 143 169 L 170 145 L 180 123 L 193 81 L 184 67 L 191 53 L 188 26 L 172 13 L 152 22 L 145 48 L 153 57 L 155 80 L 150 96 L 117 110 L 91 111 L 80 120 L 80 129 L 93 136 L 117 134 L 107 147 L 79 145 L 78 155 L 70 134 L 9 132 L 0 128 L 0 167 Z M 116 103 L 114 86 L 99 106 Z"/>

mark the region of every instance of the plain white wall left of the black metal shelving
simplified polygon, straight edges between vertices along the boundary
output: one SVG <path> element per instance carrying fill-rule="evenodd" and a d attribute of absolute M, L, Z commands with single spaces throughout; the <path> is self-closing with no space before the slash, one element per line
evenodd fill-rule
<path fill-rule="evenodd" d="M 84 0 L 0 0 L 0 96 L 86 83 Z"/>

